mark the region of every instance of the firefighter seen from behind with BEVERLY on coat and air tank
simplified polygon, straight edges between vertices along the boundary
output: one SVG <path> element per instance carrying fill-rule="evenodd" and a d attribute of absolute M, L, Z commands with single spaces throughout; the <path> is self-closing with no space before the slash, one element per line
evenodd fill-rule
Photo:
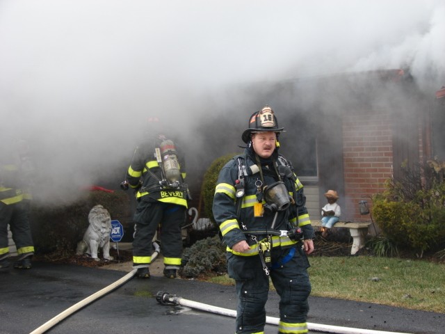
<path fill-rule="evenodd" d="M 152 241 L 161 226 L 161 252 L 164 276 L 175 278 L 181 266 L 181 226 L 186 220 L 187 185 L 184 156 L 177 144 L 163 134 L 154 136 L 136 148 L 127 182 L 135 189 L 138 205 L 133 216 L 133 268 L 136 276 L 149 278 Z"/>

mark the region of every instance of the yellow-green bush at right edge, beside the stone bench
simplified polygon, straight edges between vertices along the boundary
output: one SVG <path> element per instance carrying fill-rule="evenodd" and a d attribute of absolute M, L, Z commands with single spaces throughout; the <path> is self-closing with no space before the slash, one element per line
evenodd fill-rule
<path fill-rule="evenodd" d="M 416 180 L 425 180 L 420 182 Z M 414 250 L 434 249 L 445 238 L 445 183 L 428 165 L 405 169 L 400 180 L 373 196 L 373 218 L 384 237 L 397 246 Z"/>

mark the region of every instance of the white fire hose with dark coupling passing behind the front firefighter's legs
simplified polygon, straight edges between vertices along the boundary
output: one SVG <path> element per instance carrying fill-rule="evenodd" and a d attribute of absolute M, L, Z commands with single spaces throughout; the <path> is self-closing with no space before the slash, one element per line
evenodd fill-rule
<path fill-rule="evenodd" d="M 188 308 L 194 308 L 196 310 L 202 310 L 205 312 L 216 313 L 218 315 L 225 315 L 227 317 L 236 317 L 236 311 L 227 308 L 220 308 L 209 304 L 200 303 L 197 301 L 191 301 L 168 292 L 158 292 L 156 294 L 156 301 L 163 305 L 182 305 Z M 278 325 L 280 319 L 274 317 L 266 317 L 266 324 Z M 309 331 L 318 331 L 325 333 L 337 333 L 337 334 L 407 334 L 387 331 L 374 331 L 362 328 L 350 328 L 342 326 L 331 326 L 323 324 L 313 324 L 308 322 L 307 329 Z"/>

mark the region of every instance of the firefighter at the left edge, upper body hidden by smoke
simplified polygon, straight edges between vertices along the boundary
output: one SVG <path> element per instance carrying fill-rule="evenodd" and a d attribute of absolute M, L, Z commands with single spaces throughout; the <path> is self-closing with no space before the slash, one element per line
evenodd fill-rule
<path fill-rule="evenodd" d="M 31 269 L 34 254 L 31 226 L 29 224 L 29 169 L 28 152 L 21 150 L 22 143 L 0 143 L 0 271 L 10 265 L 8 225 L 17 248 L 15 269 Z"/>

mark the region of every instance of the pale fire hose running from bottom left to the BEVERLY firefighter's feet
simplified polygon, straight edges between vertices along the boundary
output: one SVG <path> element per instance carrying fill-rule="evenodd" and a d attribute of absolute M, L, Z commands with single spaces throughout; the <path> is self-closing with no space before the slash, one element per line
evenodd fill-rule
<path fill-rule="evenodd" d="M 154 252 L 152 254 L 152 261 L 159 255 L 159 252 L 160 252 L 159 244 L 154 242 L 153 246 L 154 246 Z M 131 278 L 133 278 L 133 276 L 136 275 L 136 271 L 137 271 L 137 269 L 133 269 L 132 271 L 127 273 L 127 275 L 125 275 L 124 277 L 120 278 L 119 280 L 116 280 L 115 283 L 108 285 L 108 287 L 104 287 L 104 289 L 99 290 L 98 292 L 95 292 L 95 294 L 88 296 L 86 299 L 79 301 L 79 303 L 72 305 L 70 308 L 67 308 L 65 311 L 59 313 L 58 315 L 56 315 L 56 317 L 47 321 L 39 328 L 36 328 L 30 334 L 41 334 L 41 333 L 48 331 L 49 328 L 56 326 L 56 324 L 58 324 L 60 321 L 62 321 L 66 317 L 69 317 L 74 312 L 80 310 L 81 308 L 83 308 L 86 305 L 92 303 L 93 301 L 101 298 L 102 296 L 105 296 L 106 294 L 108 294 L 108 292 L 111 292 L 114 289 L 117 289 L 124 283 L 127 283 L 129 280 L 131 280 Z"/>

